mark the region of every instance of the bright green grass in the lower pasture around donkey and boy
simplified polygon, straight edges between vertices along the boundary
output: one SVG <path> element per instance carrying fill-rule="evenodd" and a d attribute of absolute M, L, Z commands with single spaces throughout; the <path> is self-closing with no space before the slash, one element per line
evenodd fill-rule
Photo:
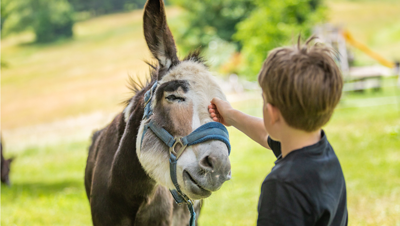
<path fill-rule="evenodd" d="M 367 96 L 374 95 L 378 94 Z M 259 100 L 237 103 L 236 107 L 261 114 Z M 349 225 L 400 225 L 397 107 L 339 106 L 324 128 L 346 178 Z M 255 225 L 261 182 L 275 157 L 235 128 L 228 130 L 232 180 L 206 199 L 199 220 L 202 225 Z M 32 147 L 19 154 L 12 165 L 12 187 L 1 187 L 1 223 L 89 225 L 83 184 L 88 145 L 77 142 Z M 12 148 L 8 150 L 12 153 Z"/>

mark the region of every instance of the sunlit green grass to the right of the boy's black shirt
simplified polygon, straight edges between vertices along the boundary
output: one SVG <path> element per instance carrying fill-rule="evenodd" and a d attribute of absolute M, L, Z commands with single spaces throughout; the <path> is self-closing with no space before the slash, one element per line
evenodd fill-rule
<path fill-rule="evenodd" d="M 326 127 L 343 166 L 350 225 L 400 225 L 400 112 L 341 109 Z"/>

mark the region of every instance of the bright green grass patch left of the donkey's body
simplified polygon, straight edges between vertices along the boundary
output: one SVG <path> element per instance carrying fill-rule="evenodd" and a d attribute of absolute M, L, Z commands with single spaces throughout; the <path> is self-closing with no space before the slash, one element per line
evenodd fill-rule
<path fill-rule="evenodd" d="M 87 146 L 32 147 L 16 156 L 12 186 L 1 186 L 1 224 L 90 225 L 83 184 Z"/>

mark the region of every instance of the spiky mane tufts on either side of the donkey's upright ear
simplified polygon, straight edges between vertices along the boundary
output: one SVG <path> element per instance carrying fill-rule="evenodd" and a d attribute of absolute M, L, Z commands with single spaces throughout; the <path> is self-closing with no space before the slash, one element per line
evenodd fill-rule
<path fill-rule="evenodd" d="M 182 62 L 185 61 L 192 61 L 192 62 L 196 62 L 199 64 L 203 64 L 204 66 L 206 66 L 207 68 L 209 68 L 206 60 L 204 59 L 204 56 L 202 55 L 202 49 L 198 48 L 195 50 L 190 51 L 184 58 L 184 60 Z M 133 76 L 129 76 L 128 77 L 128 88 L 130 90 L 130 92 L 132 93 L 132 97 L 130 97 L 129 99 L 125 100 L 124 102 L 122 102 L 125 107 L 128 106 L 128 104 L 131 102 L 132 98 L 135 97 L 135 95 L 142 91 L 144 88 L 146 88 L 149 84 L 151 84 L 154 80 L 157 79 L 157 64 L 155 62 L 149 62 L 149 61 L 144 61 L 147 65 L 149 65 L 149 69 L 150 69 L 150 74 L 148 74 L 146 76 L 145 81 L 141 81 L 139 79 L 138 74 L 136 74 L 135 78 Z"/>

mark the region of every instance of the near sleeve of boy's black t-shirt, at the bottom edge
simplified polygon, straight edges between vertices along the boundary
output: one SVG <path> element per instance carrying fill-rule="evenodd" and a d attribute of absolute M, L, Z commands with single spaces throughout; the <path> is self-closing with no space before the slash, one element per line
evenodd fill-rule
<path fill-rule="evenodd" d="M 288 183 L 264 181 L 258 201 L 257 226 L 313 225 L 311 205 Z"/>

